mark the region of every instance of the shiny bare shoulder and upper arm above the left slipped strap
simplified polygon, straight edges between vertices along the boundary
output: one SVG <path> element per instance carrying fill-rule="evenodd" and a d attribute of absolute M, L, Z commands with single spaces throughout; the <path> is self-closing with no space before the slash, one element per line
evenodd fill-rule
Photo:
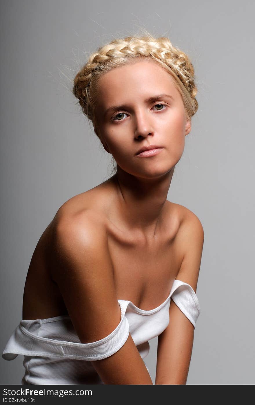
<path fill-rule="evenodd" d="M 91 208 L 64 208 L 53 228 L 52 278 L 72 323 L 83 343 L 103 339 L 120 318 L 104 216 Z"/>

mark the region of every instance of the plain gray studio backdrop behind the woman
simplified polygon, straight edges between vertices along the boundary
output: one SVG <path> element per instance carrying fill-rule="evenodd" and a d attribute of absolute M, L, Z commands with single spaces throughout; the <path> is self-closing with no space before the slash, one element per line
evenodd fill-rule
<path fill-rule="evenodd" d="M 201 305 L 187 384 L 254 384 L 254 13 L 252 1 L 2 1 L 1 349 L 22 318 L 38 239 L 58 208 L 110 176 L 70 89 L 115 36 L 169 36 L 195 67 L 199 109 L 168 199 L 202 222 Z M 252 186 L 253 184 L 253 186 Z M 156 343 L 145 359 L 154 382 Z M 20 384 L 23 356 L 0 358 Z"/>

